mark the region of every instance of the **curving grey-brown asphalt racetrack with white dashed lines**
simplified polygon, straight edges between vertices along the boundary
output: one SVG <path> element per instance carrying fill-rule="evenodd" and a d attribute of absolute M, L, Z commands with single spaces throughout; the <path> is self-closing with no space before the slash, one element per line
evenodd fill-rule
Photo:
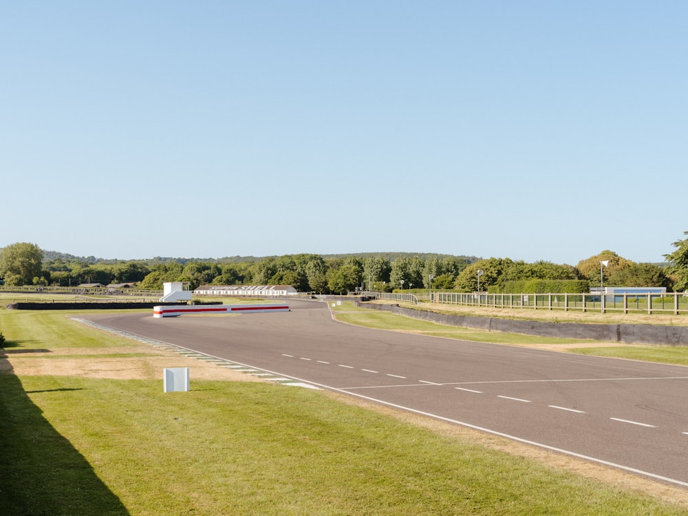
<path fill-rule="evenodd" d="M 238 316 L 87 314 L 385 405 L 688 486 L 688 368 L 372 330 L 326 303 Z"/>

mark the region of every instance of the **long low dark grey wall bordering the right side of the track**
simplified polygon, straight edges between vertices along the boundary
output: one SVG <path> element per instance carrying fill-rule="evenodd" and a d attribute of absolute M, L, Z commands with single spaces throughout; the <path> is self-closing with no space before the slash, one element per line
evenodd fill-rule
<path fill-rule="evenodd" d="M 447 326 L 459 326 L 486 330 L 488 332 L 510 332 L 525 335 L 559 338 L 590 338 L 595 341 L 619 342 L 625 344 L 661 344 L 688 346 L 688 327 L 655 326 L 648 324 L 575 324 L 548 323 L 542 321 L 513 321 L 495 317 L 436 314 L 399 305 L 376 305 L 356 303 L 374 310 L 386 310 L 393 314 L 413 319 L 431 321 Z"/>

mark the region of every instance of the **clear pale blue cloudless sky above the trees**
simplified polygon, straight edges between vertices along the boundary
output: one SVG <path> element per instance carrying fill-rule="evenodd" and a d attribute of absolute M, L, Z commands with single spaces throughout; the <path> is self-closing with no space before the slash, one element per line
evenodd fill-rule
<path fill-rule="evenodd" d="M 0 1 L 0 247 L 663 261 L 686 1 Z"/>

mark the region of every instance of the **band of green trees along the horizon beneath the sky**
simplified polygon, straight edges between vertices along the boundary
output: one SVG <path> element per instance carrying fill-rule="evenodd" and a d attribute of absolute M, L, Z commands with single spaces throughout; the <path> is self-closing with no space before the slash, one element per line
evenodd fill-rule
<path fill-rule="evenodd" d="M 684 235 L 688 235 L 686 232 Z M 610 250 L 581 259 L 576 266 L 508 258 L 366 253 L 283 255 L 239 259 L 98 260 L 44 252 L 19 242 L 0 250 L 0 280 L 6 286 L 72 286 L 82 283 L 137 283 L 162 290 L 166 281 L 201 285 L 291 285 L 299 292 L 343 294 L 362 290 L 499 291 L 510 281 L 587 280 L 590 286 L 688 288 L 688 238 L 672 244 L 666 264 L 636 263 Z M 605 261 L 606 266 L 601 266 Z M 478 273 L 480 272 L 480 275 Z M 504 291 L 504 290 L 502 290 Z"/>

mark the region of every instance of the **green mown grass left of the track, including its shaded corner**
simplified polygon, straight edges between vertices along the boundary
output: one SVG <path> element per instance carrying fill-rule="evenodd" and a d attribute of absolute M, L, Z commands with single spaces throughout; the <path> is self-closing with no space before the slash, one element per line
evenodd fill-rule
<path fill-rule="evenodd" d="M 347 308 L 341 316 L 365 313 Z M 481 444 L 471 432 L 325 391 L 197 380 L 190 392 L 164 394 L 153 373 L 12 374 L 12 364 L 19 370 L 57 354 L 75 365 L 94 356 L 143 358 L 140 343 L 68 315 L 0 310 L 8 338 L 0 354 L 2 515 L 688 511 L 688 503 L 669 501 L 688 499 L 674 488 L 653 489 L 648 480 L 614 472 L 608 482 L 594 480 L 605 475 L 570 471 L 583 471 L 582 463 L 555 467 L 537 454 L 506 453 L 503 442 L 491 446 L 496 438 Z"/>

